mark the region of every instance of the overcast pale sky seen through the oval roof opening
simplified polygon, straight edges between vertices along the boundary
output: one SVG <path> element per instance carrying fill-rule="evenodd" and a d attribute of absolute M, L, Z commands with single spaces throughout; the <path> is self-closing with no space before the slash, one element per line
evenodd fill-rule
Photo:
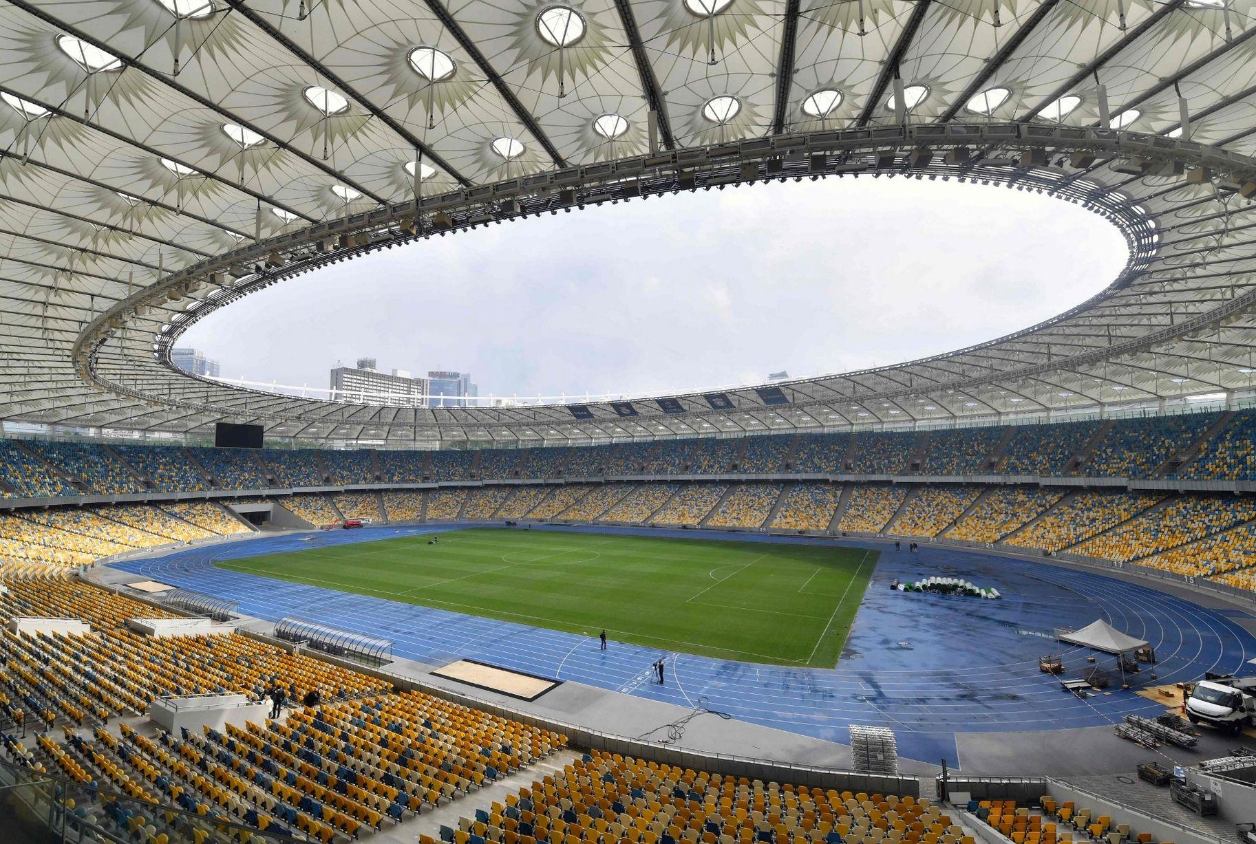
<path fill-rule="evenodd" d="M 673 391 L 896 363 L 1099 291 L 1103 219 L 1035 193 L 902 178 L 774 183 L 433 237 L 284 281 L 193 327 L 222 374 L 470 372 L 480 394 Z"/>

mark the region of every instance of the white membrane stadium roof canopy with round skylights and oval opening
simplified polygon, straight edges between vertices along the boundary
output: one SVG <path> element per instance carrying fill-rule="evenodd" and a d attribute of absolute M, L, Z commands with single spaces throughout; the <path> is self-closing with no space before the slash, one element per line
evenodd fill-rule
<path fill-rule="evenodd" d="M 8 0 L 0 414 L 561 442 L 1247 389 L 1253 4 Z M 869 173 L 1051 192 L 1119 226 L 1129 262 L 1094 299 L 978 347 L 662 403 L 330 402 L 168 360 L 214 308 L 407 240 Z"/>

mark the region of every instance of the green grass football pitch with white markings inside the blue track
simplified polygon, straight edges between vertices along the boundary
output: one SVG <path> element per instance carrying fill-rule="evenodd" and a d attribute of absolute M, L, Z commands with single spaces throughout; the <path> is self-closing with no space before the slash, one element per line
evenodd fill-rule
<path fill-rule="evenodd" d="M 831 668 L 877 551 L 468 529 L 221 568 L 725 659 Z"/>

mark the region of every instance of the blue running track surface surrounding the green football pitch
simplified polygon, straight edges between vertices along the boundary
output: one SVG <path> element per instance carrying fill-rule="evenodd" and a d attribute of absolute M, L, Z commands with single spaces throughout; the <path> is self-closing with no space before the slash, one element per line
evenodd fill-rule
<path fill-rule="evenodd" d="M 1080 628 L 1096 618 L 1145 638 L 1156 648 L 1156 684 L 1196 679 L 1205 671 L 1240 673 L 1256 657 L 1256 638 L 1235 623 L 1240 610 L 1215 610 L 1138 584 L 1027 560 L 948 548 L 919 554 L 883 544 L 843 541 L 882 551 L 839 666 L 789 668 L 615 643 L 600 651 L 589 637 L 322 589 L 214 565 L 333 544 L 448 531 L 448 525 L 368 528 L 266 536 L 111 564 L 177 587 L 229 598 L 240 610 L 276 620 L 299 615 L 394 641 L 396 656 L 431 664 L 471 658 L 555 679 L 577 681 L 685 707 L 706 696 L 711 708 L 736 718 L 849 742 L 852 723 L 894 731 L 903 756 L 958 766 L 956 733 L 1064 730 L 1113 723 L 1163 707 L 1119 688 L 1083 701 L 1039 672 L 1037 657 L 1063 653 L 1069 677 L 1086 657 L 1110 668 L 1113 657 L 1054 641 L 1055 627 Z M 570 529 L 564 529 L 570 530 Z M 607 533 L 607 529 L 585 529 Z M 633 533 L 632 529 L 612 529 Z M 646 533 L 646 531 L 637 531 Z M 667 531 L 648 531 L 666 535 Z M 692 531 L 676 535 L 693 538 Z M 744 534 L 703 538 L 816 541 Z M 1001 600 L 891 592 L 889 582 L 932 574 L 995 587 Z M 649 608 L 643 607 L 642 613 Z M 651 682 L 651 664 L 667 661 L 667 682 Z M 1140 677 L 1145 677 L 1148 671 Z M 1135 678 L 1135 687 L 1142 681 Z M 1114 686 L 1115 688 L 1115 686 Z"/>

